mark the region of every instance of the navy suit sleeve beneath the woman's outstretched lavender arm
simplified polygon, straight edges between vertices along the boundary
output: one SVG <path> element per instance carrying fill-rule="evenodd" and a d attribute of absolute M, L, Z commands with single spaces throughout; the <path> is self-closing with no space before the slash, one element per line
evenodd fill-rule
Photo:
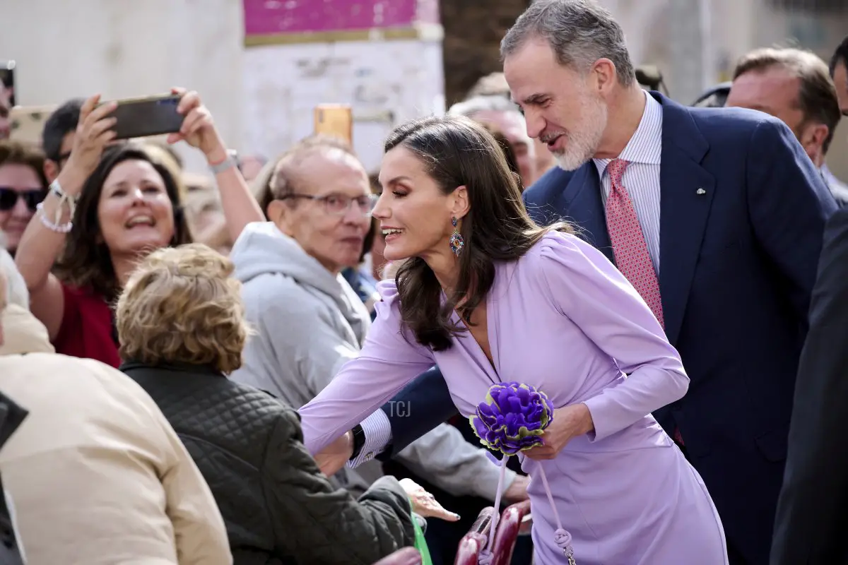
<path fill-rule="evenodd" d="M 387 461 L 404 447 L 457 413 L 442 372 L 433 367 L 420 374 L 382 406 L 392 425 L 392 441 L 377 457 Z"/>

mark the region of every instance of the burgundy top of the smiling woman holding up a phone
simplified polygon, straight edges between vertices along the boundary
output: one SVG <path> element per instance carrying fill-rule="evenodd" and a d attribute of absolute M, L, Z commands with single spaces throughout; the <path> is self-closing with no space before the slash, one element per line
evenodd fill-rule
<path fill-rule="evenodd" d="M 59 334 L 53 340 L 57 353 L 87 357 L 117 368 L 118 344 L 114 337 L 112 309 L 91 289 L 62 284 L 64 313 Z"/>

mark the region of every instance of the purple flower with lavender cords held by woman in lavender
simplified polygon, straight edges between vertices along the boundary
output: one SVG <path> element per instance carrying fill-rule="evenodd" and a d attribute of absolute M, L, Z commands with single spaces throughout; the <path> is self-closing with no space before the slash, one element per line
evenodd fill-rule
<path fill-rule="evenodd" d="M 471 422 L 471 429 L 474 429 L 474 433 L 480 438 L 480 443 L 488 449 L 504 454 L 500 462 L 498 491 L 494 500 L 494 507 L 499 508 L 507 459 L 519 451 L 543 445 L 544 430 L 554 421 L 554 407 L 548 396 L 534 386 L 517 382 L 496 383 L 489 387 L 486 402 L 477 404 L 477 412 L 468 420 Z M 576 565 L 571 546 L 572 536 L 562 527 L 548 479 L 541 465 L 538 466 L 538 475 L 542 479 L 545 494 L 548 495 L 551 510 L 554 512 L 557 525 L 554 532 L 556 545 L 561 548 L 569 565 Z M 491 548 L 497 518 L 498 514 L 495 512 L 489 529 L 488 545 L 480 554 L 481 565 L 489 565 L 493 560 Z"/>

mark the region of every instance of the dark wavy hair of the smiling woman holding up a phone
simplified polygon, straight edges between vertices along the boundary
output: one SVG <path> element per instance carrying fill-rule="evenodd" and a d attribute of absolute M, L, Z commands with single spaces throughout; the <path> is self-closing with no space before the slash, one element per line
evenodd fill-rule
<path fill-rule="evenodd" d="M 74 224 L 65 241 L 64 251 L 59 256 L 54 272 L 60 280 L 79 288 L 87 288 L 114 302 L 120 294 L 120 284 L 114 273 L 109 247 L 100 237 L 98 203 L 103 192 L 103 183 L 118 164 L 125 161 L 147 161 L 159 173 L 165 183 L 171 207 L 174 209 L 174 236 L 169 245 L 192 243 L 185 213 L 182 208 L 183 194 L 179 173 L 167 163 L 153 157 L 151 152 L 137 142 L 125 142 L 108 147 L 103 152 L 97 169 L 82 186 L 80 200 L 76 204 Z M 151 250 L 152 251 L 152 250 Z"/>

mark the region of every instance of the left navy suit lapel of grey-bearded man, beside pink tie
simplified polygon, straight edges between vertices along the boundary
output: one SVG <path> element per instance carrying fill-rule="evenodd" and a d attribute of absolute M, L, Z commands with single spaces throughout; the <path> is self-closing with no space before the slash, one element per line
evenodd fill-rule
<path fill-rule="evenodd" d="M 610 235 L 606 230 L 604 205 L 600 198 L 598 169 L 592 161 L 574 172 L 571 182 L 561 192 L 554 206 L 557 210 L 567 210 L 567 219 L 577 224 L 577 235 L 600 249 L 615 263 Z"/>

